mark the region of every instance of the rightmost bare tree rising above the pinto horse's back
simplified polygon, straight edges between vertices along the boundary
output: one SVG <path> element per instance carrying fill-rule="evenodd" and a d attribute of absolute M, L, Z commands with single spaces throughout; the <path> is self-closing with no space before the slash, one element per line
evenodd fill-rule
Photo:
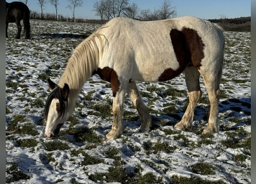
<path fill-rule="evenodd" d="M 176 16 L 174 7 L 171 7 L 169 0 L 164 0 L 161 7 L 157 10 L 159 19 L 167 19 Z"/>

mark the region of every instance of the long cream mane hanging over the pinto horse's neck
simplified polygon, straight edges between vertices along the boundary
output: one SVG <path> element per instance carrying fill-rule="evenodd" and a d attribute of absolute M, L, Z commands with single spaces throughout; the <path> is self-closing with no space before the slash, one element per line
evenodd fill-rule
<path fill-rule="evenodd" d="M 86 80 L 91 77 L 94 70 L 97 70 L 98 61 L 106 43 L 104 34 L 93 33 L 74 49 L 70 59 L 68 59 L 68 64 L 58 83 L 60 87 L 63 87 L 64 83 L 70 87 L 68 113 L 72 113 L 78 93 Z"/>

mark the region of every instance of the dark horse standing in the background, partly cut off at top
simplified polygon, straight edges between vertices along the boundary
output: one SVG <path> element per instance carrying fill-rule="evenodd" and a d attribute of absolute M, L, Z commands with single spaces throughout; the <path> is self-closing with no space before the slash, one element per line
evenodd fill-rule
<path fill-rule="evenodd" d="M 6 37 L 8 37 L 7 29 L 8 29 L 9 22 L 16 22 L 17 29 L 18 29 L 18 32 L 16 34 L 16 39 L 20 39 L 21 20 L 23 20 L 25 39 L 29 39 L 30 38 L 29 15 L 30 15 L 29 8 L 23 2 L 19 2 L 19 1 L 14 1 L 11 3 L 5 2 Z"/>

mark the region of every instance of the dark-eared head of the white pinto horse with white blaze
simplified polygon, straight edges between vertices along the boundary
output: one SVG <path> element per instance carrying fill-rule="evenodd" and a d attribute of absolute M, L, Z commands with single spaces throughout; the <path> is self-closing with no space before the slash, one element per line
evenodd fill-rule
<path fill-rule="evenodd" d="M 67 100 L 69 87 L 65 83 L 61 88 L 56 85 L 51 79 L 48 79 L 49 94 L 44 108 L 44 121 L 46 121 L 46 127 L 44 134 L 47 137 L 57 135 L 60 131 L 60 127 L 67 120 Z"/>

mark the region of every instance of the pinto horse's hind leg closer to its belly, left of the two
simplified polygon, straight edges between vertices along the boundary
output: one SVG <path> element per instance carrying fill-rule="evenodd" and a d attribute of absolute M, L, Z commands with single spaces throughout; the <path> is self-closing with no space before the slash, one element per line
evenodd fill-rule
<path fill-rule="evenodd" d="M 200 73 L 198 72 L 197 68 L 194 66 L 187 67 L 184 73 L 186 86 L 188 87 L 189 91 L 189 104 L 181 121 L 175 125 L 175 128 L 178 129 L 186 129 L 192 127 L 194 109 L 196 108 L 197 102 L 201 97 L 201 90 L 199 85 Z"/>

